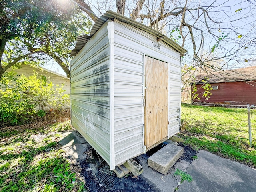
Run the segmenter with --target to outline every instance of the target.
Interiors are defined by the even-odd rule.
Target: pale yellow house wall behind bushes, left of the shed
[[[9,68],[8,70],[6,70],[6,72],[10,72],[11,70],[12,69]],[[57,84],[60,86],[64,84],[62,89],[65,91],[63,92],[63,94],[70,94],[70,79],[62,74],[58,74],[38,66],[33,67],[24,64],[21,65],[21,68],[15,69],[13,71],[15,71],[17,75],[24,74],[25,76],[31,76],[34,74],[34,72],[37,72],[39,77],[41,75],[45,76],[48,82],[52,82],[54,88],[56,88]]]

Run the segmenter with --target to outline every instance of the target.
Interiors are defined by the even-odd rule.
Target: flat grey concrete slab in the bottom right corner
[[[256,169],[199,151],[186,172],[193,178],[184,182],[178,192],[255,192]]]

